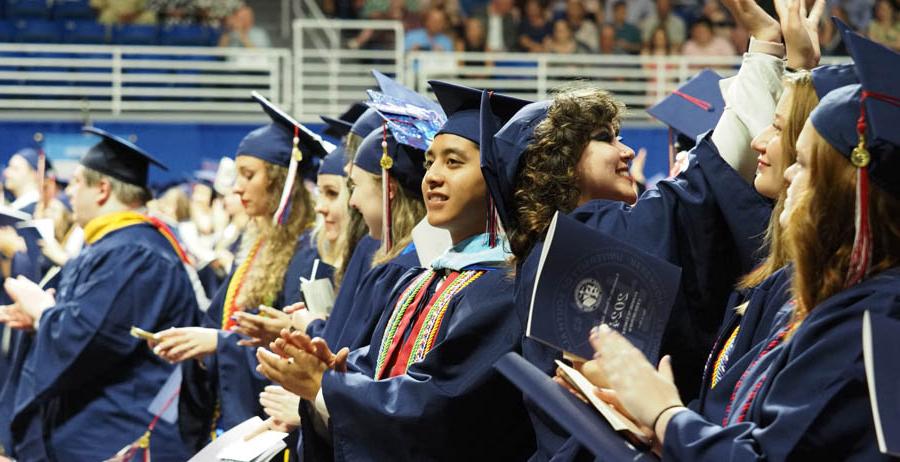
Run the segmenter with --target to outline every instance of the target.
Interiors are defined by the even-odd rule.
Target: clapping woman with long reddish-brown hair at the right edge
[[[900,319],[900,55],[844,34],[860,84],[828,93],[797,140],[779,219],[791,293],[721,420],[686,409],[671,380],[601,326],[586,375],[681,460],[881,460],[863,366],[865,312]],[[858,53],[855,53],[856,50]],[[894,332],[894,335],[900,332]],[[875,348],[879,348],[875,345]]]

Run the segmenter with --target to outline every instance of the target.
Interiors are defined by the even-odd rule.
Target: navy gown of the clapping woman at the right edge
[[[663,457],[891,460],[879,453],[872,424],[860,341],[866,310],[876,319],[900,319],[900,268],[828,298],[790,340],[761,356],[787,325],[787,305],[767,339],[750,353],[757,361],[735,390],[727,425],[693,411],[680,412],[666,428]]]

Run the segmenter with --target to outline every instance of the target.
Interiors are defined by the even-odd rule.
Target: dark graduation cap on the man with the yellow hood
[[[150,164],[169,170],[162,162],[124,138],[96,127],[84,127],[82,131],[100,137],[100,142],[81,158],[81,165],[91,170],[142,188],[148,187]]]

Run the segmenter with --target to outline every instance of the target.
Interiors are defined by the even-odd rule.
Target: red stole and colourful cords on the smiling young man
[[[440,281],[438,273],[429,269],[416,277],[400,294],[388,320],[378,351],[375,378],[403,375],[410,366],[425,359],[434,346],[450,301],[484,273],[484,270],[452,271]],[[420,310],[428,288],[436,282],[440,286]]]

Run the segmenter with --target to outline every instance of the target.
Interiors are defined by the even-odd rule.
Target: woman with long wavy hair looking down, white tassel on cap
[[[269,382],[254,368],[252,340],[235,332],[245,311],[257,307],[275,319],[270,307],[302,301],[300,278],[330,277],[312,239],[314,210],[302,175],[323,157],[327,146],[279,108],[255,96],[272,123],[250,132],[238,146],[235,193],[257,227],[256,242],[213,299],[202,327],[156,334],[154,352],[184,361],[180,403],[182,430],[193,447],[215,433],[262,414],[255,397]],[[195,361],[187,361],[196,359]]]

